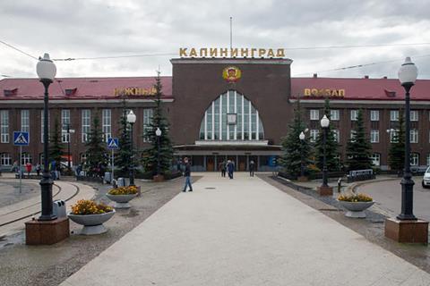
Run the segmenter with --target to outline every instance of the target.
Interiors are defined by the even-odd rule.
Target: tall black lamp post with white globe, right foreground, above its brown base
[[[410,61],[410,57],[407,57],[405,63],[403,63],[399,70],[399,80],[401,86],[405,88],[405,172],[403,173],[403,179],[401,180],[401,213],[397,215],[397,218],[403,220],[416,221],[417,217],[413,214],[413,191],[414,181],[410,173],[410,105],[409,105],[409,90],[415,84],[417,80],[417,66],[415,63]]]

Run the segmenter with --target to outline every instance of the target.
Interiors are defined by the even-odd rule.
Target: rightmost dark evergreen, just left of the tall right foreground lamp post
[[[391,132],[391,130],[390,130]],[[402,172],[405,166],[405,119],[403,111],[399,111],[399,129],[392,133],[392,142],[388,153],[388,164],[391,170]]]

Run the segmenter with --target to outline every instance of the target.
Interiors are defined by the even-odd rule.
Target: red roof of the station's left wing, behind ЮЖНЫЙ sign
[[[160,77],[164,98],[172,97],[172,77]],[[49,86],[50,99],[108,99],[118,98],[116,88],[144,88],[150,91],[154,77],[130,78],[64,78]],[[76,89],[74,89],[76,88]],[[0,80],[0,100],[43,99],[44,88],[38,79]],[[142,98],[146,96],[130,97]]]

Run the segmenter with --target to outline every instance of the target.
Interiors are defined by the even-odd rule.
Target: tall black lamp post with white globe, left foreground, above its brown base
[[[49,138],[48,138],[48,88],[56,77],[56,65],[51,61],[48,54],[39,57],[39,62],[36,65],[36,71],[40,82],[45,88],[44,105],[43,105],[43,173],[40,179],[42,213],[39,216],[39,221],[52,221],[56,219],[56,215],[52,212],[52,180],[48,169],[49,157]]]

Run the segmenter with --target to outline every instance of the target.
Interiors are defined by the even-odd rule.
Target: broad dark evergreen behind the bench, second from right
[[[370,158],[372,146],[366,138],[366,128],[363,118],[363,111],[360,109],[357,114],[355,136],[348,140],[347,144],[347,164],[348,170],[363,170],[372,168]]]

